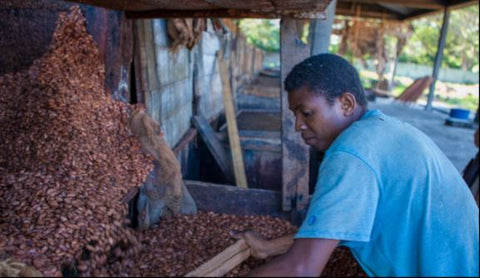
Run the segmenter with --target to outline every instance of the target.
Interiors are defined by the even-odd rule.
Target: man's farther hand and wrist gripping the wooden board
[[[236,239],[243,239],[250,247],[250,253],[254,258],[266,259],[281,255],[288,251],[293,244],[293,235],[287,235],[272,240],[265,239],[256,231],[230,231],[230,235]]]

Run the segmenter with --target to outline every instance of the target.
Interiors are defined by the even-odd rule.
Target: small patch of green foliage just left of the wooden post
[[[271,52],[280,50],[280,20],[242,19],[240,30],[247,41],[258,48]]]

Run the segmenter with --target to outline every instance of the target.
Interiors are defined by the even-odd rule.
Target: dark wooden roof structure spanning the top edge
[[[73,0],[113,10],[130,18],[223,17],[297,18],[325,17],[332,0]],[[410,20],[445,8],[478,4],[478,0],[337,0],[336,15]]]

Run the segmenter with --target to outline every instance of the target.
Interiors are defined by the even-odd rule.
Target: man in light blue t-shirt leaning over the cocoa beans
[[[478,276],[478,207],[462,177],[425,134],[368,110],[343,58],[312,56],[285,79],[295,129],[325,152],[297,234],[244,238],[250,276],[319,276],[337,245],[369,276]]]

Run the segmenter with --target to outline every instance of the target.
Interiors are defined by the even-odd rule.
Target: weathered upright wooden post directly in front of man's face
[[[310,47],[299,38],[296,20],[280,22],[280,61],[282,76],[282,208],[301,210],[308,204],[309,150],[300,134],[295,132],[295,118],[288,106],[283,80],[299,62],[310,56]]]

